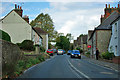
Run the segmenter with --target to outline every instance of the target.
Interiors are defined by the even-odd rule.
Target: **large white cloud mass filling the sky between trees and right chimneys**
[[[104,7],[105,3],[51,2],[50,8],[41,12],[50,14],[58,32],[72,33],[76,39],[100,24]]]

